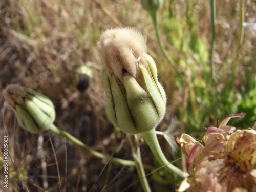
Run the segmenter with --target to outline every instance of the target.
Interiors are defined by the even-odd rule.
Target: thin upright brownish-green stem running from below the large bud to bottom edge
[[[131,149],[132,149],[132,156],[135,162],[135,167],[137,170],[137,173],[139,175],[140,183],[142,185],[142,188],[145,192],[151,192],[150,185],[148,184],[148,181],[146,179],[145,170],[142,164],[142,159],[140,155],[140,146],[138,142],[138,137],[136,135],[127,135]]]

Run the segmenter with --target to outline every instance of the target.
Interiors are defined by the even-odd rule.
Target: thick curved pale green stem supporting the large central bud
[[[152,153],[154,154],[155,158],[158,160],[158,162],[162,166],[164,166],[170,172],[178,175],[181,178],[185,178],[189,176],[188,173],[183,172],[178,167],[174,166],[173,164],[170,164],[170,162],[166,159],[165,155],[161,150],[159,142],[157,140],[155,129],[152,129],[151,131],[140,133],[140,134],[145,139],[148,146],[150,146]]]

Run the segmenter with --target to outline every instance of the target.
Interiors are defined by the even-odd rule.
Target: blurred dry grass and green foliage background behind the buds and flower
[[[115,130],[105,115],[97,51],[103,30],[130,26],[147,36],[148,54],[166,91],[167,111],[158,131],[167,130],[171,140],[181,133],[200,140],[205,127],[217,126],[234,113],[246,115],[230,125],[251,127],[256,121],[256,4],[217,1],[211,20],[211,2],[164,1],[158,25],[171,65],[140,1],[2,0],[0,90],[17,83],[48,96],[56,106],[55,124],[60,129],[94,150],[131,159],[125,134]],[[135,168],[106,164],[48,132],[24,131],[2,94],[0,108],[1,180],[4,135],[11,159],[9,187],[4,191],[142,191]],[[163,136],[158,138],[170,160],[180,157]],[[141,148],[143,162],[159,166],[142,139]],[[174,191],[180,182],[162,169],[146,173],[152,191]]]

